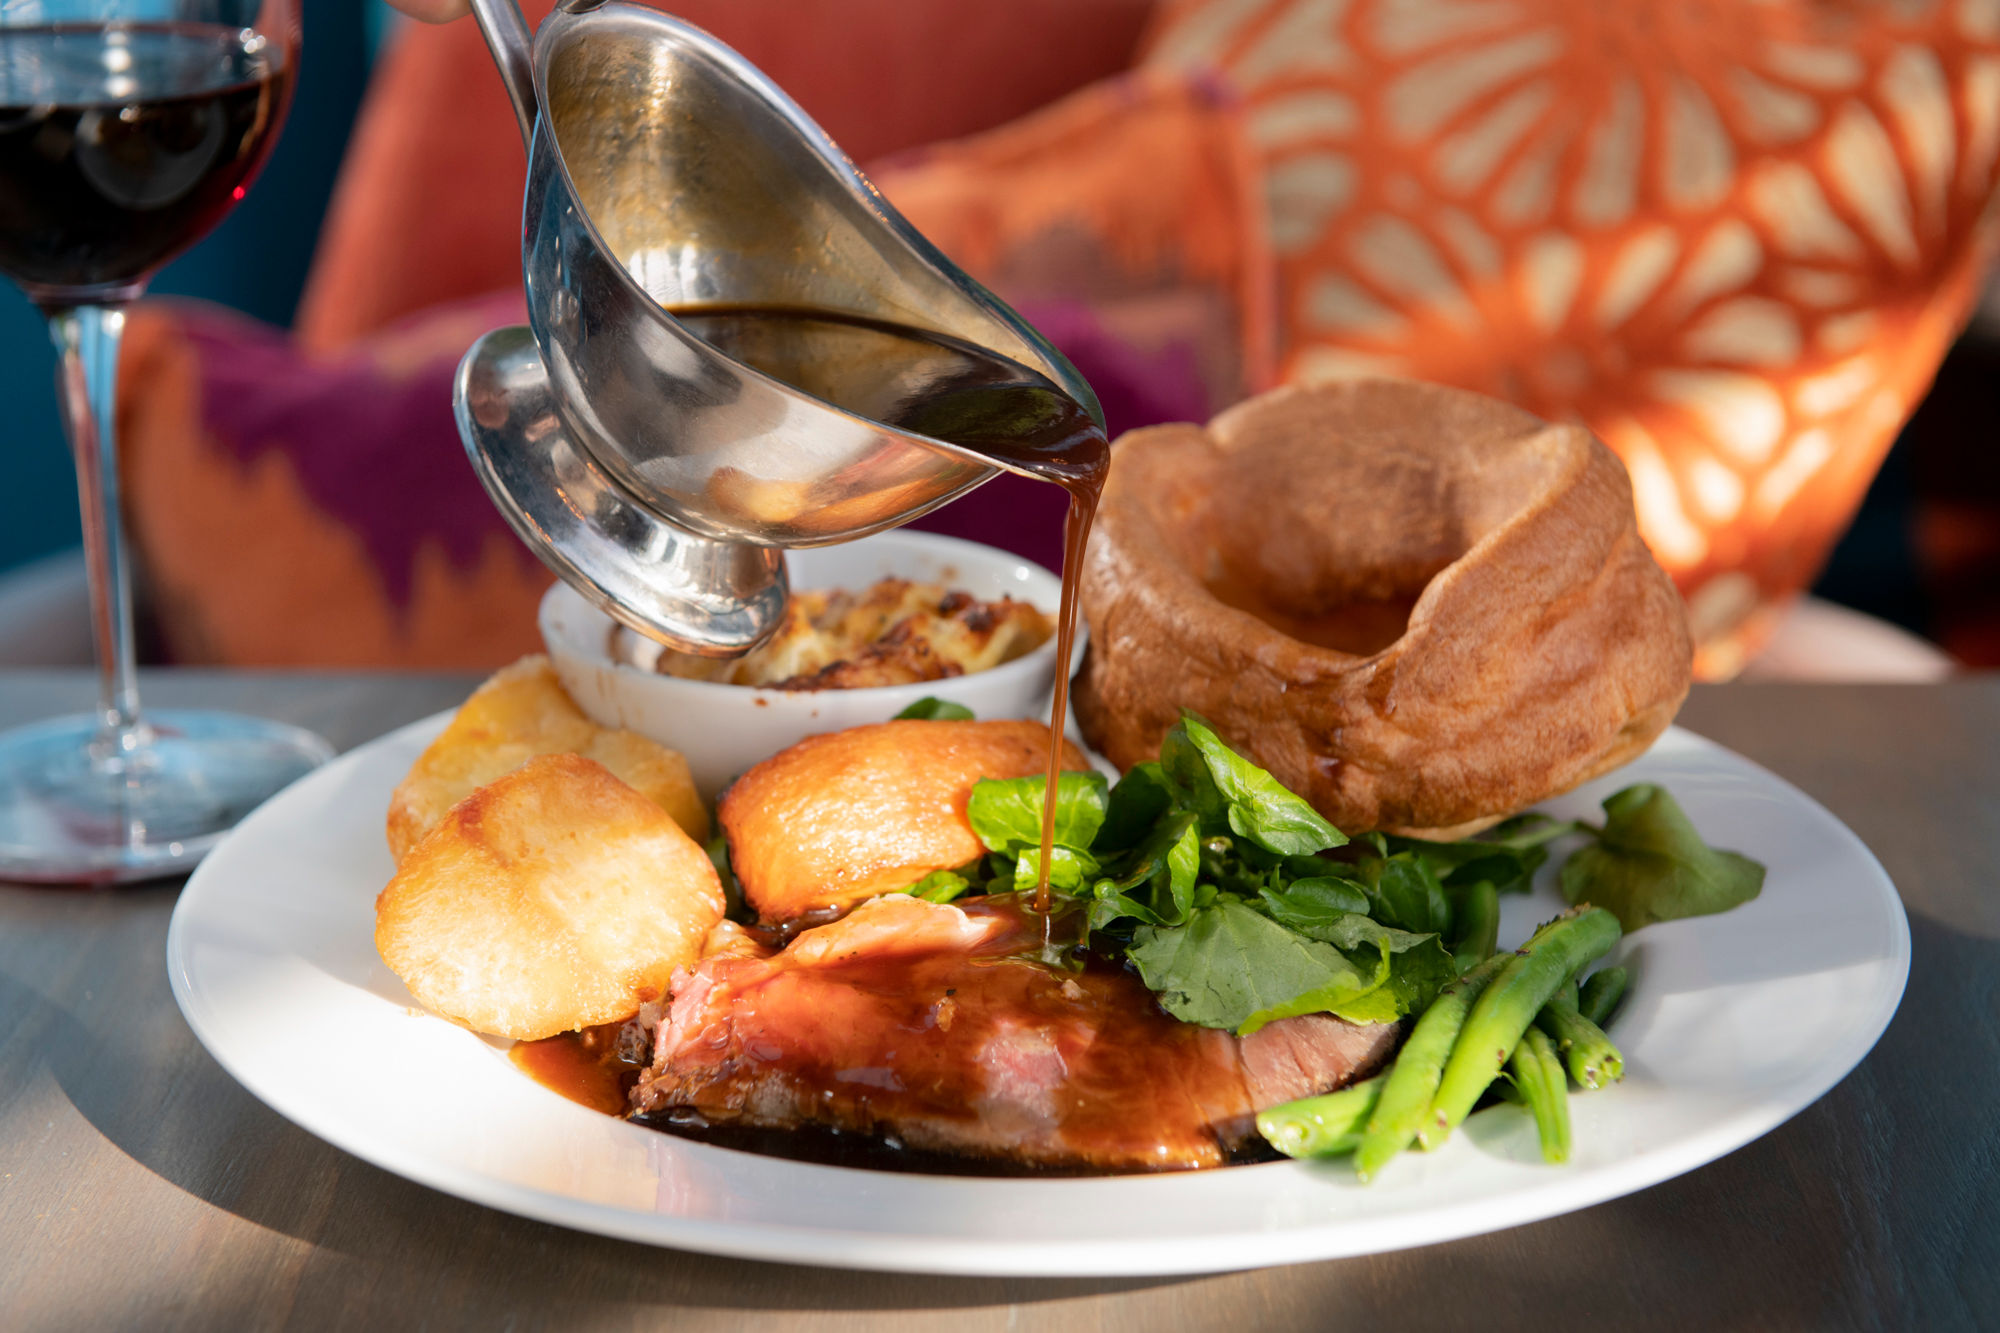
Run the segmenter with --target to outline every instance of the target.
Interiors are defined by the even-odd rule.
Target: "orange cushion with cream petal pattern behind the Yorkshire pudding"
[[[1730,675],[1994,240],[2000,0],[1172,0],[1248,108],[1280,374],[1578,416]]]

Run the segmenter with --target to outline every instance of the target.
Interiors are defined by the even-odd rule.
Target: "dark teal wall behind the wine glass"
[[[326,216],[340,152],[380,38],[378,4],[304,0],[298,92],[284,136],[250,196],[208,240],[170,264],[154,292],[200,296],[290,324]],[[76,474],[56,414],[56,360],[42,316],[0,280],[0,568],[74,546]]]

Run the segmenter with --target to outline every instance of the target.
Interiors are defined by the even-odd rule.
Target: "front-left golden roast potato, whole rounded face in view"
[[[376,899],[376,949],[432,1011],[532,1041],[630,1019],[722,921],[708,853],[580,755],[454,805]]]

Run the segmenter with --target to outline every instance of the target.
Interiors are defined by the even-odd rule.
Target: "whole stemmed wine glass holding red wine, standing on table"
[[[140,713],[114,440],[124,306],[244,196],[296,70],[296,0],[0,0],[0,274],[56,342],[98,652],[94,715],[0,735],[4,879],[184,871],[332,755],[264,719]]]

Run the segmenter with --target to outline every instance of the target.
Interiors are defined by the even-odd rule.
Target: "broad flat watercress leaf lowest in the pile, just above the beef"
[[[1186,925],[1140,927],[1128,957],[1160,1007],[1182,1023],[1250,1033],[1302,1003],[1316,1013],[1376,985],[1332,945],[1288,931],[1240,899],[1218,895]],[[1246,1027],[1248,1025],[1248,1027]]]

